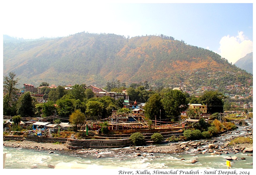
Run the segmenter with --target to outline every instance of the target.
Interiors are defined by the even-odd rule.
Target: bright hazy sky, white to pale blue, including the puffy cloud
[[[24,39],[83,31],[130,38],[163,34],[212,50],[232,63],[253,51],[253,3],[117,2],[120,1],[1,1],[3,34]]]

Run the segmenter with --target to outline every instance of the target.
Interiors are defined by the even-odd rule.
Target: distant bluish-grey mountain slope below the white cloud
[[[234,65],[253,74],[253,53],[248,53],[245,57],[240,58]]]

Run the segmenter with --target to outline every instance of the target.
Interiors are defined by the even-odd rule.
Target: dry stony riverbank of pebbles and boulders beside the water
[[[245,133],[245,137],[253,138],[253,126],[244,126],[239,130],[227,131],[226,133],[220,134],[217,137],[213,137],[208,140],[195,140],[195,141],[184,141],[178,143],[168,143],[165,140],[164,144],[148,144],[146,146],[130,146],[126,148],[119,148],[114,150],[114,152],[123,153],[177,153],[183,151],[192,150],[194,153],[199,154],[229,154],[229,153],[252,153],[253,144],[242,143],[230,145],[230,141],[240,136],[240,133]],[[234,134],[237,136],[233,136]],[[225,135],[230,134],[230,137],[221,140]],[[44,143],[44,142],[34,142],[29,140],[5,140],[3,141],[3,146],[14,147],[14,148],[29,148],[37,150],[66,150],[71,152],[85,151],[88,153],[99,153],[105,152],[108,149],[79,149],[71,150],[66,147],[66,144],[56,144],[56,143]]]

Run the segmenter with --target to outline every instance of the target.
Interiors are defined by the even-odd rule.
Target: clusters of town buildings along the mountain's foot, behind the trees
[[[225,90],[227,91],[223,95],[230,99],[245,99],[247,97],[253,98],[253,86],[250,85],[251,80],[248,80],[248,84],[243,85],[241,83],[234,83],[234,85],[227,85],[225,86]],[[175,85],[172,85],[175,86]],[[44,98],[44,94],[41,93],[42,88],[57,88],[56,85],[51,85],[51,86],[40,86],[40,87],[35,87],[34,85],[31,84],[23,84],[22,87],[20,88],[19,91],[16,92],[17,97],[20,97],[24,92],[31,92],[31,96],[35,97],[38,103],[45,103],[48,101],[48,99]],[[70,90],[72,88],[72,85],[65,85],[65,90]],[[103,96],[110,96],[114,99],[118,98],[124,98],[125,100],[125,106],[129,104],[127,100],[129,100],[129,95],[127,95],[127,90],[122,90],[122,92],[108,92],[107,90],[104,90],[102,88],[96,87],[96,85],[89,85],[85,87],[85,89],[91,89],[92,92],[95,94],[95,97],[103,97]],[[198,85],[198,88],[190,86],[188,87],[187,85],[182,85],[180,83],[179,87],[174,87],[172,88],[173,90],[182,90],[183,92],[187,92],[190,95],[197,95],[197,94],[202,94],[204,91],[217,91],[218,86],[215,86],[214,88],[212,86],[204,86],[204,85]],[[191,89],[192,91],[188,91],[187,89]],[[152,89],[148,89],[151,91]],[[6,91],[3,91],[3,95],[6,95]],[[235,102],[235,104],[232,105],[234,108],[239,107],[239,108],[253,108],[253,102],[249,102],[248,104],[244,104],[243,102]]]

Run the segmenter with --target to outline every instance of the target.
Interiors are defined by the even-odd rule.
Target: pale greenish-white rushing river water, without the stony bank
[[[247,122],[249,126],[252,126],[252,119],[247,120]],[[214,140],[219,141],[216,144],[221,144],[226,142],[225,139],[230,139],[232,136],[245,136],[246,133],[246,126],[239,126],[236,131],[216,137]],[[168,145],[168,143],[165,145]],[[207,145],[204,147],[206,148]],[[130,147],[125,149],[129,150]],[[226,169],[225,158],[227,156],[237,156],[239,159],[231,161],[231,168],[253,168],[253,156],[249,156],[248,153],[242,152],[237,154],[231,152],[229,154],[222,153],[220,155],[211,155],[209,153],[199,154],[198,151],[196,151],[197,149],[190,149],[181,153],[141,153],[142,156],[136,156],[136,153],[116,153],[116,150],[118,149],[105,149],[99,154],[88,154],[85,151],[70,152],[55,150],[53,154],[49,154],[49,151],[47,150],[3,147],[3,152],[7,153],[5,160],[6,169],[47,169],[49,168],[49,164],[54,166],[60,162],[139,169]],[[145,154],[145,156],[143,156],[143,154]],[[98,155],[101,155],[101,158],[97,158]],[[242,157],[245,158],[245,160],[242,160]],[[185,160],[181,160],[182,158]],[[191,163],[193,159],[197,160],[194,164]]]

